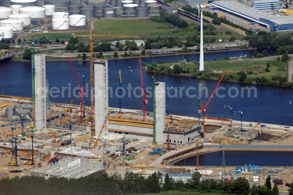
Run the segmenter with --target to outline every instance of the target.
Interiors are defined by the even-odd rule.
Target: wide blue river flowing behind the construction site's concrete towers
[[[215,58],[220,59],[220,55],[223,56],[240,56],[245,53],[252,55],[253,50],[246,51],[228,51],[222,53],[205,53],[206,60],[214,60]],[[268,51],[269,54],[274,54],[275,51]],[[171,62],[178,61],[182,56],[162,56],[154,58],[143,58],[146,62]],[[198,60],[199,54],[188,54],[184,55],[185,59]],[[73,62],[76,73],[80,73],[77,77],[80,84],[82,83],[81,74],[86,75],[86,93],[85,105],[90,105],[90,93],[89,93],[89,61],[77,65],[77,62]],[[133,72],[129,72],[129,66],[131,66]],[[109,60],[108,70],[109,70],[109,87],[114,90],[119,86],[118,71],[121,69],[122,76],[122,87],[126,88],[128,83],[131,83],[133,88],[140,87],[140,74],[139,74],[139,63],[137,58],[130,59],[119,59],[119,60]],[[143,72],[145,87],[152,86],[151,74]],[[57,87],[61,89],[64,86],[71,87],[76,86],[74,75],[70,68],[69,62],[67,61],[54,61],[46,62],[46,78],[50,79],[50,88]],[[23,81],[24,80],[24,83]],[[169,110],[170,113],[178,115],[189,115],[197,116],[197,98],[190,98],[186,93],[188,87],[195,87],[198,89],[199,84],[203,87],[207,87],[209,95],[212,92],[212,88],[216,85],[216,80],[204,80],[190,77],[180,77],[175,75],[157,75],[157,80],[161,82],[167,82],[173,87],[185,87],[183,90],[182,97],[169,98]],[[0,64],[0,97],[4,95],[15,95],[28,97],[32,95],[32,81],[31,81],[31,63],[29,62],[16,62],[10,61]],[[280,88],[280,87],[270,87],[270,86],[258,86],[258,85],[246,85],[244,83],[236,82],[222,82],[222,87],[226,90],[221,90],[220,95],[226,95],[225,98],[215,97],[209,103],[207,107],[206,115],[210,117],[230,117],[229,109],[224,109],[223,104],[232,103],[234,106],[248,107],[246,112],[243,113],[243,121],[253,121],[253,122],[264,122],[273,123],[280,125],[292,125],[293,117],[291,115],[293,105],[287,103],[287,100],[292,99],[293,89],[290,88]],[[228,89],[234,87],[236,90],[241,89],[241,87],[255,87],[257,90],[257,97],[254,97],[254,91],[252,90],[248,97],[248,92],[243,93],[243,97],[240,95],[236,98],[228,97]],[[26,90],[26,88],[28,90]],[[282,94],[280,94],[280,89],[282,89]],[[67,102],[69,103],[71,99],[74,100],[74,104],[79,104],[79,99],[76,97],[68,97],[71,94],[71,90],[65,91],[66,97],[50,97],[52,102]],[[78,91],[76,92],[78,93]],[[172,95],[174,91],[170,92]],[[234,94],[233,92],[231,92]],[[137,92],[139,94],[139,91]],[[190,90],[190,95],[198,94],[198,90]],[[148,98],[149,103],[146,105],[147,111],[153,110],[152,98]],[[205,103],[207,100],[203,99],[202,102]],[[119,107],[119,98],[114,95],[114,97],[109,98],[110,107]],[[266,107],[261,110],[249,110],[250,108]],[[123,97],[122,98],[122,108],[128,109],[142,109],[142,98],[133,97]],[[240,120],[240,115],[234,115],[235,120]]]

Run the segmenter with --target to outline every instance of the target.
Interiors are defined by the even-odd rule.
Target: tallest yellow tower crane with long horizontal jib
[[[94,118],[93,118],[93,116],[94,116],[93,37],[116,37],[116,38],[119,38],[119,37],[138,37],[138,36],[137,35],[111,35],[110,31],[109,31],[108,35],[93,35],[93,32],[90,31],[89,35],[76,35],[76,34],[72,33],[71,36],[89,37],[90,38],[89,51],[91,53],[91,57],[90,57],[90,62],[91,62],[91,65],[90,65],[90,68],[91,68],[91,135],[95,136],[95,126],[94,126],[95,122],[94,122]]]

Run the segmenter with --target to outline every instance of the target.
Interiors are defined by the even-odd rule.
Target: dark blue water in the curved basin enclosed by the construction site
[[[277,151],[225,151],[226,166],[292,166],[293,152]],[[257,158],[255,158],[257,157]],[[200,154],[199,166],[222,166],[222,151]],[[196,156],[182,159],[173,165],[196,166]]]

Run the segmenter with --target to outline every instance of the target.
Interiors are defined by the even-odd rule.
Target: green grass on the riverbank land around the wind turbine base
[[[256,62],[256,68],[254,68],[254,62]],[[265,72],[267,63],[270,64],[270,72]],[[175,64],[175,63],[172,63]],[[163,65],[165,69],[168,69],[172,64]],[[247,74],[247,78],[265,77],[266,79],[271,79],[275,75],[286,76],[286,63],[282,60],[256,60],[256,61],[205,61],[205,70],[220,70],[227,71],[227,74],[235,76],[238,78],[237,73],[244,71],[244,73],[252,72],[252,74]],[[191,73],[194,68],[198,68],[195,63],[186,63],[179,65],[183,69],[189,69]],[[256,74],[254,71],[256,70]]]

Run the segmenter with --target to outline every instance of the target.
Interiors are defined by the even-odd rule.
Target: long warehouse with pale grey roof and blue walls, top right
[[[293,16],[275,16],[236,1],[216,1],[211,5],[248,22],[257,22],[260,26],[269,28],[270,31],[293,30]]]

